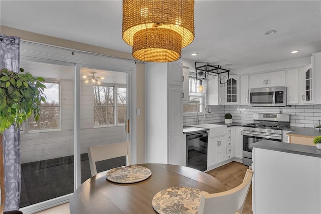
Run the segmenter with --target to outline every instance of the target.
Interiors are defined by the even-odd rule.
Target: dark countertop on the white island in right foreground
[[[250,145],[250,148],[253,148],[253,147],[321,158],[321,150],[317,149],[315,146],[262,140]]]

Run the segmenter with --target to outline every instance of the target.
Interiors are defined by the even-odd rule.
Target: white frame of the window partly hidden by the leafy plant
[[[59,85],[58,88],[58,100],[59,100],[59,127],[58,128],[51,128],[51,129],[36,129],[36,130],[29,130],[29,118],[23,123],[21,134],[28,134],[28,133],[43,133],[43,132],[59,132],[62,131],[61,129],[61,81],[57,79],[46,78],[46,81],[43,83],[57,83]],[[46,94],[45,94],[46,95]]]

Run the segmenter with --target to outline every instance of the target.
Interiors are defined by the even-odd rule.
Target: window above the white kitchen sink
[[[184,113],[196,113],[199,111],[200,113],[204,112],[204,108],[200,108],[200,104],[204,103],[205,98],[204,94],[198,90],[199,81],[196,80],[196,76],[190,75],[190,92],[189,92],[189,103],[184,104]],[[203,85],[205,86],[206,91],[206,81],[203,81]],[[204,103],[205,104],[205,103]]]

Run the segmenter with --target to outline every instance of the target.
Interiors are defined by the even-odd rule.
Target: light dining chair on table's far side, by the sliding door
[[[88,147],[88,158],[91,176],[97,174],[96,162],[126,156],[126,165],[130,165],[129,141]]]

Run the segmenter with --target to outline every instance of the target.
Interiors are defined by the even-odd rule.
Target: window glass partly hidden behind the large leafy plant
[[[46,102],[41,102],[39,120],[35,121],[33,116],[29,118],[29,130],[59,129],[60,83],[44,82],[43,84],[47,87],[44,90],[47,99]]]

